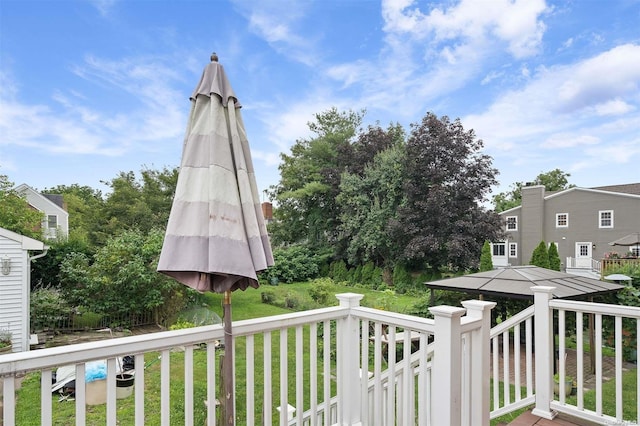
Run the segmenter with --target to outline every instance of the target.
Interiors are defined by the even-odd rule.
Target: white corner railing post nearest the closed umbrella
[[[340,306],[356,308],[364,297],[358,293],[336,294]],[[360,323],[348,315],[338,321],[337,328],[338,423],[359,425],[362,399],[360,395]]]

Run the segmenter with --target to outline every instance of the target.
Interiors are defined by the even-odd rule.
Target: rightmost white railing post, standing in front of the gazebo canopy
[[[534,286],[534,331],[535,331],[535,389],[536,406],[531,411],[534,415],[545,419],[553,419],[555,411],[551,411],[553,399],[553,312],[549,300],[553,298],[555,287]]]

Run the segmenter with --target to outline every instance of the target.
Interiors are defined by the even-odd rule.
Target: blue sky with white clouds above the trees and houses
[[[0,0],[0,173],[106,191],[180,163],[220,56],[261,190],[330,107],[474,129],[507,190],[559,168],[640,182],[640,1]]]

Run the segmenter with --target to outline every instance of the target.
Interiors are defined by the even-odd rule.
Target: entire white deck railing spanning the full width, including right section
[[[553,300],[552,288],[533,290],[534,306],[493,330],[491,302],[433,307],[434,319],[424,319],[360,307],[362,295],[351,293],[338,295],[340,306],[333,308],[234,322],[237,424],[488,425],[490,418],[525,406],[546,418],[564,412],[601,424],[637,422],[624,419],[625,400],[637,401],[638,392],[625,389],[623,395],[621,376],[623,321],[625,326],[632,322],[637,332],[640,309]],[[563,356],[569,351],[568,336],[575,335],[582,347],[590,316],[595,326],[595,402],[585,398],[585,358],[577,351],[577,395],[569,403],[562,380],[559,396],[554,396],[553,365],[557,359],[561,379],[569,374]],[[130,354],[136,365],[131,396],[136,424],[182,423],[172,412],[176,406],[186,425],[202,424],[201,418],[216,424],[216,348],[223,339],[222,327],[215,325],[2,355],[4,424],[16,424],[20,411],[16,377],[40,373],[40,409],[29,407],[29,412],[48,425],[58,409],[51,394],[54,370],[72,365],[76,377],[84,377],[86,362],[103,359],[107,424],[117,424],[117,360]],[[615,409],[602,402],[605,343],[615,350]],[[561,355],[556,357],[556,351]],[[156,362],[159,374],[145,374]],[[176,368],[184,372],[184,383],[171,383]],[[152,376],[158,383],[150,382]],[[75,404],[77,425],[87,420],[88,388],[77,386],[75,403],[64,402]],[[159,396],[145,395],[152,388],[159,389]],[[159,399],[159,409],[149,402],[153,397]],[[145,408],[145,401],[154,408]]]

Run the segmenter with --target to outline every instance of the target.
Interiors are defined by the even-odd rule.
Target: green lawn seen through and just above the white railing
[[[279,286],[263,286],[259,289],[248,289],[247,291],[238,291],[232,294],[232,317],[234,321],[261,318],[266,316],[278,315],[283,313],[290,313],[291,310],[283,309],[278,306],[262,303],[261,293],[262,291],[269,290],[276,293],[277,298],[282,298],[288,294],[295,293],[302,303],[302,307],[305,309],[312,309],[317,306],[308,295],[308,290],[313,284],[297,283],[297,284],[284,284]],[[416,298],[411,296],[394,296],[390,297],[388,293],[382,293],[365,288],[356,288],[349,286],[335,285],[331,289],[332,293],[346,293],[356,292],[364,294],[362,305],[376,306],[384,303],[386,307],[393,311],[403,312],[415,302]],[[222,295],[207,293],[205,295],[206,303],[211,309],[222,317]],[[384,300],[383,300],[384,299]],[[332,305],[337,305],[338,301],[335,298],[331,298]],[[304,330],[304,344],[308,345],[310,328],[305,327]],[[255,370],[256,370],[256,383],[255,383],[255,401],[256,401],[256,413],[255,418],[260,423],[262,415],[261,403],[263,401],[263,383],[262,380],[262,355],[263,355],[263,337],[261,335],[255,338]],[[319,342],[319,344],[321,344]],[[271,393],[273,395],[273,401],[279,400],[280,383],[277,370],[280,366],[280,350],[279,350],[279,332],[272,333],[272,367],[273,367],[273,385]],[[288,353],[295,353],[295,339],[292,333],[289,333],[288,339]],[[307,346],[304,346],[307,347]],[[246,357],[246,340],[244,338],[238,338],[236,340],[235,358],[236,358],[236,376],[239,378],[245,377],[245,357]],[[158,354],[150,353],[145,355],[145,361],[147,368],[145,369],[145,415],[148,424],[159,424],[160,418],[160,367],[159,362],[152,362],[157,358]],[[305,352],[303,355],[304,362],[304,374],[309,374],[309,359],[310,354]],[[288,371],[295,372],[295,357],[290,357],[290,361],[287,364]],[[322,369],[322,363],[319,362],[319,369]],[[195,377],[203,377],[206,371],[206,351],[195,350],[194,351],[194,372]],[[335,371],[335,366],[332,367],[332,371]],[[322,377],[322,371],[319,372]],[[170,398],[170,412],[171,412],[171,424],[184,423],[184,353],[173,352],[171,354],[171,398]],[[219,378],[217,379],[219,383]],[[322,380],[319,380],[319,386],[322,385]],[[308,381],[305,381],[305,395],[308,395]],[[333,382],[335,384],[335,382]],[[318,395],[322,395],[322,389],[318,389]],[[289,384],[288,389],[289,401],[295,398],[295,381]],[[39,425],[40,424],[40,374],[30,373],[26,376],[22,383],[22,388],[18,391],[18,400],[16,407],[16,422],[18,425]],[[67,425],[75,423],[75,403],[69,401],[58,402],[59,396],[57,394],[52,395],[53,399],[53,424],[54,425]],[[237,392],[237,404],[236,412],[240,418],[244,418],[246,413],[244,410],[246,406],[244,404],[246,398],[246,390],[242,386],[238,386]],[[206,408],[203,401],[206,399],[206,382],[204,380],[194,380],[194,416],[195,424],[203,424],[206,418]],[[295,404],[295,403],[293,403]],[[304,408],[309,408],[309,401],[304,402]],[[134,398],[129,397],[125,399],[117,400],[117,418],[119,424],[133,424],[135,418],[135,406]],[[273,410],[274,424],[278,423],[278,412]],[[87,406],[86,419],[88,425],[105,424],[106,422],[106,404]]]

